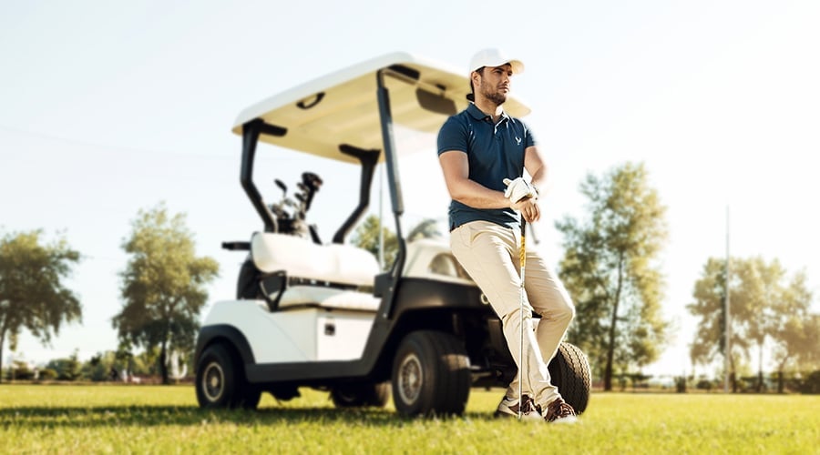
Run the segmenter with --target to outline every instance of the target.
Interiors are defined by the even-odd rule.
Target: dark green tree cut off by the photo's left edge
[[[28,329],[48,344],[64,322],[82,319],[79,300],[62,283],[79,253],[65,238],[46,244],[41,234],[34,230],[0,238],[0,371],[6,339],[15,350],[20,331]]]

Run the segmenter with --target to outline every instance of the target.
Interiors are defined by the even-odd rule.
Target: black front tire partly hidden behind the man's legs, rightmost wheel
[[[587,410],[592,376],[587,356],[575,345],[561,343],[548,365],[552,385],[577,414]]]

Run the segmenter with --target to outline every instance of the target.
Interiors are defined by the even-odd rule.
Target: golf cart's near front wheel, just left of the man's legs
[[[405,416],[460,415],[470,381],[470,360],[460,339],[445,332],[411,332],[393,362],[395,410]]]

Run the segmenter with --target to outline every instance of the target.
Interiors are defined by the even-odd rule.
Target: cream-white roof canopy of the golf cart
[[[403,144],[403,131],[437,133],[447,116],[467,106],[470,85],[465,71],[405,53],[379,56],[271,96],[244,109],[234,122],[233,132],[241,135],[242,125],[261,118],[287,130],[284,136],[261,135],[262,142],[356,162],[341,153],[339,146],[383,148],[376,74],[389,67],[395,71],[386,72],[384,84],[389,90],[396,148],[403,154],[414,152],[421,147]],[[433,105],[449,108],[438,108],[436,112],[422,107],[418,90],[424,91],[422,97]],[[507,98],[504,108],[511,116],[529,113],[528,107],[514,97]],[[384,154],[380,160],[384,160]]]

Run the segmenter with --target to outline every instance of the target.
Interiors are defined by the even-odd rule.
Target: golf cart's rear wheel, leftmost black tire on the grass
[[[201,408],[256,409],[261,390],[245,381],[241,367],[229,348],[215,344],[202,353],[197,363],[196,390]]]

